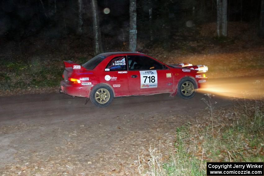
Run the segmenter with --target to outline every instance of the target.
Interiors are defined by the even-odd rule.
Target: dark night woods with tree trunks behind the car
[[[264,34],[264,0],[26,0],[0,2],[0,37],[20,41],[30,36],[93,39],[95,54],[105,38],[169,41],[182,28],[216,23],[218,37],[228,37],[228,22],[246,22]],[[213,37],[213,36],[212,36]]]

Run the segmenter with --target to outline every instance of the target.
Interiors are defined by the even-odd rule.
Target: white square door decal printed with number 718
[[[140,72],[140,88],[156,88],[158,87],[157,70],[139,71]]]

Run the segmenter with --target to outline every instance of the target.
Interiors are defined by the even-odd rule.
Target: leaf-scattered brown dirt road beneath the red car
[[[0,97],[0,174],[138,175],[150,143],[173,146],[175,129],[206,113],[202,97],[123,97],[105,108],[59,93]]]

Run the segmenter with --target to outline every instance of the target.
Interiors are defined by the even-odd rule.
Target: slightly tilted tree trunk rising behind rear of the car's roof
[[[92,12],[93,12],[93,43],[94,43],[94,55],[98,55],[103,52],[101,29],[99,25],[97,0],[91,0]]]

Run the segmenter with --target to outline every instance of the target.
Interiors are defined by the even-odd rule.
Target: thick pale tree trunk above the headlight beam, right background
[[[217,36],[227,36],[227,0],[216,0]]]

